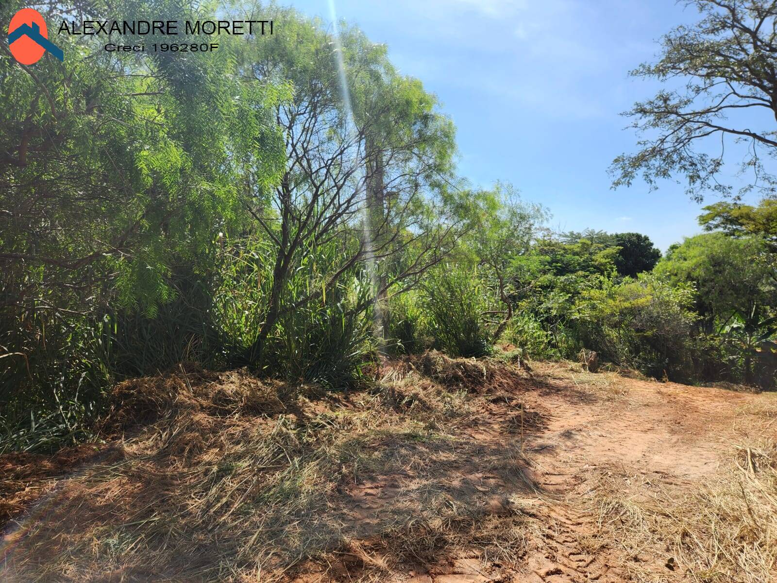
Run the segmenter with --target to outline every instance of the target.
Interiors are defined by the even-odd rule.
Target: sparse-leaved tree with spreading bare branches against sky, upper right
[[[630,186],[641,174],[655,188],[657,180],[681,175],[697,200],[709,191],[732,194],[720,173],[726,143],[733,140],[743,142],[740,170],[751,176],[740,194],[753,189],[775,194],[777,180],[763,157],[777,155],[777,2],[686,4],[699,9],[699,23],[665,35],[660,60],[632,72],[664,83],[684,80],[685,85],[660,89],[625,112],[645,138],[638,142],[639,152],[615,158],[613,186]],[[710,154],[710,148],[718,149]]]

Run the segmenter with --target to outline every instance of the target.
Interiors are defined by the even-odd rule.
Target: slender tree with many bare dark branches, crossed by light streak
[[[440,197],[451,180],[455,131],[437,99],[399,75],[385,47],[361,31],[343,26],[333,35],[294,10],[283,15],[283,35],[247,44],[242,55],[254,79],[293,87],[276,110],[283,176],[249,204],[256,229],[274,246],[267,307],[246,350],[246,360],[260,367],[284,314],[357,269],[375,274],[380,305],[389,288],[415,285],[444,257],[459,224]],[[305,250],[332,242],[340,245],[339,262],[289,301],[284,288]]]

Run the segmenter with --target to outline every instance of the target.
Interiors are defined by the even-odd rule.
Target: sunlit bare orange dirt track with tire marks
[[[619,380],[628,391],[605,392],[595,401],[559,380],[525,395],[530,407],[547,412],[546,431],[532,436],[527,448],[538,468],[534,479],[549,494],[538,511],[548,523],[534,537],[526,581],[629,581],[622,568],[628,557],[594,543],[598,516],[589,501],[601,480],[618,475],[627,482],[639,476],[650,484],[652,477],[676,487],[698,483],[719,466],[730,421],[748,398],[720,389]],[[634,482],[639,495],[645,482]],[[581,540],[589,548],[581,548]]]

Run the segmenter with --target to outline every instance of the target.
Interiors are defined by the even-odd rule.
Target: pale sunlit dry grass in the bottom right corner
[[[600,541],[617,540],[636,581],[777,581],[777,443],[732,449],[725,470],[694,489],[651,484],[598,494]],[[656,562],[655,557],[661,557]]]

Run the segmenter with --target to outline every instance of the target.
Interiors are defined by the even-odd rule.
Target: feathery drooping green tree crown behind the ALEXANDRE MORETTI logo
[[[18,5],[2,8],[4,22]],[[176,6],[96,2],[81,15],[193,17]],[[50,2],[47,15],[61,9]],[[100,301],[153,311],[172,263],[206,256],[239,215],[243,171],[263,187],[279,176],[280,93],[239,76],[230,44],[221,57],[136,57],[89,37],[59,42],[73,58],[35,68],[0,48],[0,309],[67,309],[52,292],[96,305],[99,288],[115,292]]]

